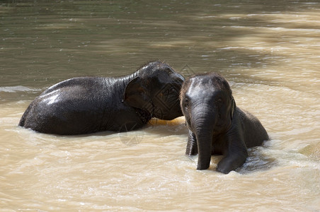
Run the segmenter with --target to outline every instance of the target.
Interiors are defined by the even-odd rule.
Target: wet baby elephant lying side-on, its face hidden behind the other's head
[[[62,135],[137,129],[152,117],[182,116],[183,81],[181,74],[159,61],[127,76],[71,78],[35,98],[19,125]]]

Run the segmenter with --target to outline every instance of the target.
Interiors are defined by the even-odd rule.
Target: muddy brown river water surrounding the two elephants
[[[1,211],[319,211],[319,1],[1,1]],[[184,118],[85,136],[18,127],[42,90],[166,61],[217,71],[270,141],[196,170]]]

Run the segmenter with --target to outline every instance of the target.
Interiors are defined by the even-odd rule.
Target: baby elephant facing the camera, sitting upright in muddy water
[[[198,170],[210,166],[211,155],[224,155],[217,170],[224,174],[241,167],[247,148],[268,140],[261,122],[236,107],[225,78],[208,73],[188,78],[181,88],[181,109],[189,129],[187,155],[198,154]]]

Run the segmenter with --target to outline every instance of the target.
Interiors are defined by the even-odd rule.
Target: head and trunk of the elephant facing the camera
[[[186,153],[198,153],[198,170],[210,166],[213,142],[232,126],[235,107],[229,83],[217,73],[193,76],[183,83],[181,109],[195,141],[188,143]]]

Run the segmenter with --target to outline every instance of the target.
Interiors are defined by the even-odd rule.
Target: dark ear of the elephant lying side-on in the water
[[[139,109],[143,109],[151,101],[147,95],[147,90],[142,86],[141,78],[136,77],[127,84],[123,100],[131,107]]]

